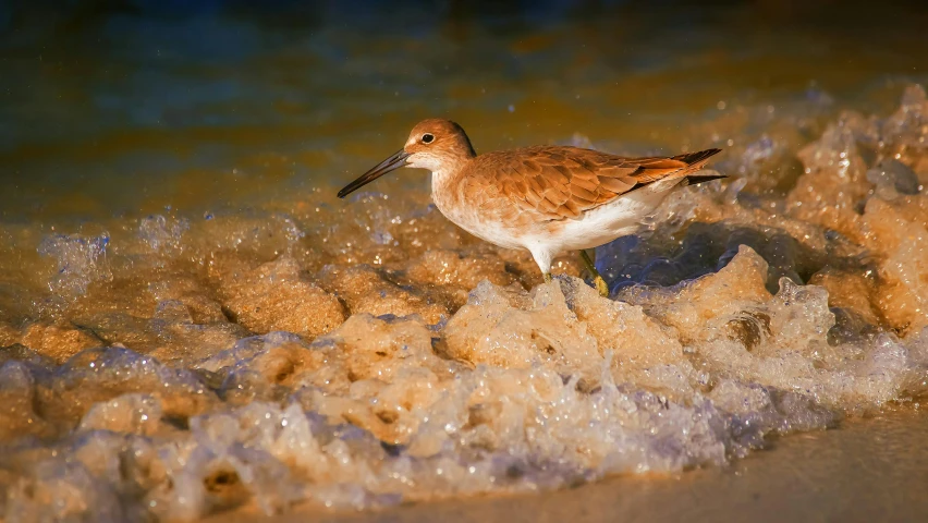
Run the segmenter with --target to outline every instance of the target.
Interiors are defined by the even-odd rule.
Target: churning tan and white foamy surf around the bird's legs
[[[911,87],[884,119],[821,127],[765,108],[716,166],[744,178],[680,191],[598,250],[609,299],[573,257],[541,283],[417,191],[11,227],[0,512],[194,521],[538,491],[917,403],[926,107]]]

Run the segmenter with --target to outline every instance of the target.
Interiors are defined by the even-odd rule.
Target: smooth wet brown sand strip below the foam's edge
[[[928,519],[928,414],[894,408],[840,428],[791,435],[725,467],[624,475],[573,489],[423,502],[374,513],[252,510],[205,523],[841,521]]]

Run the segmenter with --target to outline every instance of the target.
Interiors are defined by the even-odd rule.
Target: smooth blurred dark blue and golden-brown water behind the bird
[[[328,198],[428,117],[478,153],[721,145],[743,168],[896,107],[928,78],[926,28],[893,0],[4,0],[0,221]]]

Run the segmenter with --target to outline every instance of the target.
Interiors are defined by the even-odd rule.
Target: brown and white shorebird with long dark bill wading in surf
[[[586,251],[635,232],[674,188],[724,178],[698,172],[720,150],[625,158],[540,145],[478,156],[461,125],[430,119],[339,197],[401,167],[427,169],[435,205],[449,220],[500,247],[528,251],[545,281],[555,256],[579,251],[597,291],[608,296]]]

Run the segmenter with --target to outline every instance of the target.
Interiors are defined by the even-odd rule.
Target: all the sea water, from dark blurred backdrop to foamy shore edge
[[[7,521],[681,473],[928,393],[924,10],[52,7],[0,8]],[[603,299],[422,172],[335,198],[428,117],[730,178],[598,248]]]

